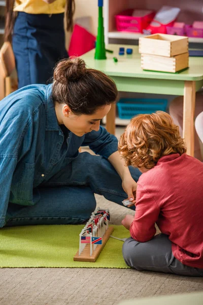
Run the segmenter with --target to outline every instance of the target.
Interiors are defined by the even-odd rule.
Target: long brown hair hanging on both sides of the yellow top
[[[6,22],[4,41],[12,41],[12,32],[15,22],[16,12],[13,11],[15,0],[6,0]],[[67,0],[65,16],[66,16],[66,29],[73,31],[73,15],[75,13],[75,0]]]

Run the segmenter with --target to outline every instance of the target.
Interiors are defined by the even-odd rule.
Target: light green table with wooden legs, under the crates
[[[109,75],[119,91],[183,96],[183,137],[187,144],[187,154],[193,156],[195,92],[203,86],[203,57],[190,57],[189,69],[177,74],[143,71],[138,46],[124,45],[125,48],[132,48],[133,54],[119,56],[120,46],[123,45],[108,45],[107,48],[114,53],[107,53],[106,60],[95,60],[94,50],[82,55],[82,58],[88,67]],[[114,56],[118,58],[117,63],[114,63]],[[113,105],[107,115],[106,126],[113,134],[115,116],[116,105]]]

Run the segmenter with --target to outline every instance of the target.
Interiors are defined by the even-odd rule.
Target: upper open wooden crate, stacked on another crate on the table
[[[172,57],[188,52],[188,37],[154,34],[139,38],[139,53]]]

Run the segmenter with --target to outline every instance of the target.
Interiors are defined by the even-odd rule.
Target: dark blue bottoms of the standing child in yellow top
[[[18,12],[12,39],[18,88],[47,84],[58,60],[69,57],[63,19],[63,13],[50,16]]]

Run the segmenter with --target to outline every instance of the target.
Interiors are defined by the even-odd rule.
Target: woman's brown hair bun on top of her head
[[[83,59],[79,57],[62,59],[54,69],[54,80],[61,84],[76,82],[86,74],[86,71]]]

